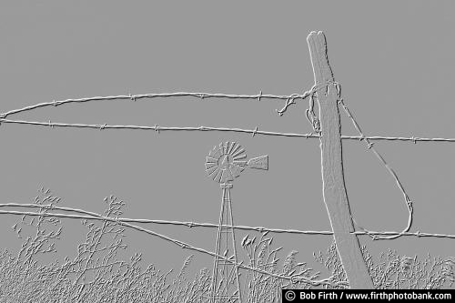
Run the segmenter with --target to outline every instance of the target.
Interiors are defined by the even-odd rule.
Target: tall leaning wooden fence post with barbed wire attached
[[[321,128],[320,151],[324,203],[350,288],[374,288],[362,257],[359,239],[356,235],[350,234],[354,231],[354,226],[344,182],[338,94],[329,66],[326,36],[322,32],[311,32],[307,42],[315,84],[323,86],[317,91],[316,96]]]

